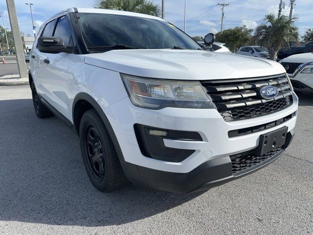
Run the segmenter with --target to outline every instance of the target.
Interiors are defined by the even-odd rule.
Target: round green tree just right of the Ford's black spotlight
[[[223,42],[226,44],[232,52],[235,52],[238,47],[249,44],[252,34],[252,29],[248,29],[246,25],[241,27],[225,29],[223,33],[218,32],[216,36],[217,42]]]

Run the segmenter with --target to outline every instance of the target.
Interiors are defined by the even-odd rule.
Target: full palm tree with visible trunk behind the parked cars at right
[[[297,18],[289,19],[287,16],[276,17],[268,14],[255,29],[254,38],[259,45],[268,47],[269,58],[275,60],[281,47],[289,47],[289,40],[298,40],[298,28],[294,26]]]

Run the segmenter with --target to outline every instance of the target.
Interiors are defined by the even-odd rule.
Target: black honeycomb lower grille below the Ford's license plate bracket
[[[261,156],[257,156],[253,153],[253,150],[247,151],[240,154],[235,154],[230,156],[232,163],[232,173],[238,174],[243,170],[249,169],[253,166],[261,164],[279,154],[283,149],[275,148]]]

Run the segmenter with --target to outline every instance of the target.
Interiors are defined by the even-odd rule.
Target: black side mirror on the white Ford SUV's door
[[[73,47],[70,45],[65,46],[63,40],[59,37],[39,37],[37,45],[39,51],[44,53],[71,53],[73,51]]]

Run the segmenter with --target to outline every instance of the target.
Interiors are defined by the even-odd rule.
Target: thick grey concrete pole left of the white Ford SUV
[[[22,46],[22,39],[20,34],[18,17],[16,14],[16,8],[14,0],[6,0],[6,5],[8,7],[9,19],[11,24],[11,31],[13,34],[13,40],[16,51],[16,60],[18,61],[18,67],[20,72],[20,77],[28,77],[26,63],[24,58],[24,50]]]

